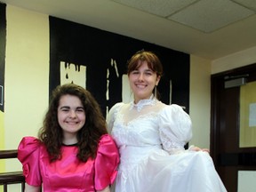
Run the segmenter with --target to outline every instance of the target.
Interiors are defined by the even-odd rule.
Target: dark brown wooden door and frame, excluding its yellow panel
[[[231,81],[235,84],[228,84]],[[241,147],[240,138],[240,125],[246,120],[241,118],[241,87],[255,81],[256,64],[212,75],[210,149],[228,192],[237,191],[239,171],[256,170],[256,146]]]

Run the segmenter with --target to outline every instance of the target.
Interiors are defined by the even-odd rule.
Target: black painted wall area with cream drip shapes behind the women
[[[164,66],[164,76],[157,89],[161,100],[169,103],[172,79],[172,103],[189,108],[189,55],[131,37],[81,25],[68,20],[49,17],[50,20],[50,93],[60,84],[60,61],[86,65],[86,88],[98,100],[103,113],[122,100],[122,75],[133,53],[141,49],[155,52]],[[119,77],[110,60],[116,60]],[[79,68],[79,66],[77,66]],[[109,100],[106,100],[107,69],[109,73]]]

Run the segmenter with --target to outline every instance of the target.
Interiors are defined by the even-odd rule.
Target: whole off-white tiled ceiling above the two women
[[[209,60],[256,46],[256,0],[0,1]]]

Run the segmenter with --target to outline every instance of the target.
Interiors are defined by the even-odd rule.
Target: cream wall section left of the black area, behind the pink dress
[[[6,20],[4,144],[15,149],[23,136],[36,136],[48,105],[49,20],[10,5]]]

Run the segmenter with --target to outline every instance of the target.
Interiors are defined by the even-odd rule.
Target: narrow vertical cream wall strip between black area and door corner
[[[190,55],[189,115],[193,139],[189,145],[210,148],[211,61]]]

